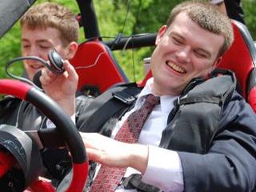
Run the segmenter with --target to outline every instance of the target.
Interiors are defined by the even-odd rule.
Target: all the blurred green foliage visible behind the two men
[[[75,0],[38,0],[36,2],[58,2],[78,14]],[[98,26],[103,40],[109,41],[118,34],[127,36],[140,33],[157,33],[158,28],[164,24],[170,10],[182,0],[94,0],[94,8],[98,17]],[[256,39],[256,7],[255,0],[243,0],[243,9],[246,15],[246,24]],[[90,19],[90,18],[88,18]],[[1,39],[0,44],[0,78],[7,78],[4,66],[12,58],[21,55],[20,26],[14,27]],[[83,30],[79,42],[85,41]],[[154,47],[136,50],[114,51],[118,63],[125,70],[131,81],[142,79],[143,58],[150,57]],[[15,65],[14,74],[22,74],[22,64]]]

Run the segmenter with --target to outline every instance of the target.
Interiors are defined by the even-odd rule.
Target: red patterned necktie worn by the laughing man
[[[114,139],[120,142],[137,142],[146,118],[159,101],[159,97],[149,94],[142,107],[129,115]],[[126,168],[102,166],[90,186],[90,192],[113,192],[125,173]]]

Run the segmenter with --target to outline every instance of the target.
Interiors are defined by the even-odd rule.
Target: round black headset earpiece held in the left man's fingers
[[[62,57],[58,54],[58,52],[54,50],[50,50],[48,54],[48,59],[50,61],[50,68],[54,73],[62,74],[64,72]]]

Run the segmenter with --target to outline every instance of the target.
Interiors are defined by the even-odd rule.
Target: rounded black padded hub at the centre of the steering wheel
[[[2,150],[8,151],[10,154],[14,155],[14,158],[18,162],[20,169],[17,166],[12,167],[10,172],[15,172],[20,175],[20,178],[16,181],[12,178],[6,179],[9,182],[13,180],[15,188],[25,189],[30,182],[34,181],[40,174],[42,174],[43,165],[40,151],[36,142],[34,142],[27,134],[22,130],[14,126],[0,125],[0,147]],[[10,177],[16,177],[13,174],[9,174]],[[8,178],[8,173],[6,174]],[[1,179],[2,180],[2,179]],[[5,180],[5,179],[4,179]],[[23,182],[21,182],[23,181]],[[8,183],[3,183],[2,185],[7,185]],[[25,186],[23,186],[25,185]],[[0,186],[2,189],[2,187]]]

